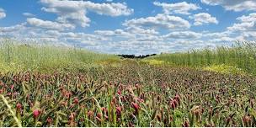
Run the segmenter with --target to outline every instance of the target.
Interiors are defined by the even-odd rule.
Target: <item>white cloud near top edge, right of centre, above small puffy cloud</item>
[[[197,6],[194,3],[159,3],[154,2],[153,3],[156,6],[160,6],[163,8],[164,13],[180,13],[180,14],[190,14],[189,11],[200,9],[199,6]]]

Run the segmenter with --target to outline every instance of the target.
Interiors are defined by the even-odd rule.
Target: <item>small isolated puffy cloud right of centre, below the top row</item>
[[[212,17],[209,13],[197,13],[193,16],[189,16],[190,19],[194,19],[194,25],[202,25],[202,24],[218,24],[218,20],[215,17]]]

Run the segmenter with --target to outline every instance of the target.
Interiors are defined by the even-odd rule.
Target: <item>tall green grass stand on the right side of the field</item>
[[[249,42],[237,42],[231,47],[219,46],[216,49],[205,48],[183,53],[161,54],[147,59],[165,61],[173,66],[209,67],[227,65],[243,69],[256,75],[256,45]]]

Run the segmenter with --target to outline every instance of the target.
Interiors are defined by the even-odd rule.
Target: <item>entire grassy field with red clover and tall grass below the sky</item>
[[[135,60],[8,41],[0,126],[256,126],[253,45]]]

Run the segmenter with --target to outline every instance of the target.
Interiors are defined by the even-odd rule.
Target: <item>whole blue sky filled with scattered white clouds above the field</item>
[[[0,0],[0,39],[145,55],[256,40],[256,0]]]

